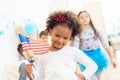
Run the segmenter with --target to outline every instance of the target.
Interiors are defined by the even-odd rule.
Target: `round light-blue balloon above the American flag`
[[[35,23],[27,23],[25,25],[25,32],[29,35],[33,35],[37,31],[37,26]]]

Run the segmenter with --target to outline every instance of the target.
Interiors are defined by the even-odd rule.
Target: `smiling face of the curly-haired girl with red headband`
[[[68,44],[71,37],[72,30],[63,25],[57,25],[50,30],[52,51],[59,50]]]

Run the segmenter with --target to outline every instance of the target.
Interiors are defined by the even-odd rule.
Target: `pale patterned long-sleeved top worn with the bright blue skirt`
[[[74,47],[80,48],[81,50],[89,51],[95,50],[100,47],[99,40],[104,48],[109,48],[108,43],[106,43],[102,32],[96,28],[97,37],[94,34],[93,29],[90,27],[85,29],[81,35],[78,35],[74,39]],[[98,40],[99,39],[99,40]]]

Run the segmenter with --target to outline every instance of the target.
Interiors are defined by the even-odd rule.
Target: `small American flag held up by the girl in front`
[[[22,47],[24,50],[32,50],[35,55],[47,53],[49,51],[49,44],[40,40],[33,40],[18,34]]]

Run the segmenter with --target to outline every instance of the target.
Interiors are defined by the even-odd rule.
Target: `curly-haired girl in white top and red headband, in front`
[[[80,30],[76,14],[72,11],[53,12],[46,24],[51,45],[50,51],[41,55],[44,74],[41,80],[87,80],[91,77],[97,70],[95,62],[79,49],[68,46],[69,40]],[[77,61],[86,66],[83,72],[75,71]]]

